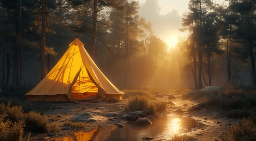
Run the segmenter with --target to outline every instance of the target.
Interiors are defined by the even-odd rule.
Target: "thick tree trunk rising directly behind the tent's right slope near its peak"
[[[95,61],[95,45],[97,34],[97,0],[93,1],[93,36],[90,46],[90,56]]]

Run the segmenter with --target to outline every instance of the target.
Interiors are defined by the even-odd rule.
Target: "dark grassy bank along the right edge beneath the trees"
[[[219,93],[194,91],[183,94],[184,99],[196,100],[207,106],[219,106],[226,111],[226,116],[242,118],[249,115],[250,110],[256,109],[256,91],[253,88],[226,87]]]

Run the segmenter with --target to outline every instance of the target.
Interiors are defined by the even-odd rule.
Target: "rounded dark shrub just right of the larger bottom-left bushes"
[[[26,129],[33,132],[45,133],[49,132],[49,122],[45,114],[41,115],[38,112],[31,111],[27,114]]]

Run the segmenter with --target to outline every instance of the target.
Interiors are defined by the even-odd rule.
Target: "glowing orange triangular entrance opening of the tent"
[[[77,100],[96,95],[99,92],[98,88],[90,79],[85,66],[83,66],[78,73],[77,79],[72,86],[71,98]]]

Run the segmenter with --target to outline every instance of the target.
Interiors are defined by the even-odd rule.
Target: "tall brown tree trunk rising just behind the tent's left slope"
[[[40,60],[41,60],[41,80],[46,76],[46,62],[45,62],[45,0],[42,0],[42,30],[41,30],[41,46],[40,46]]]

